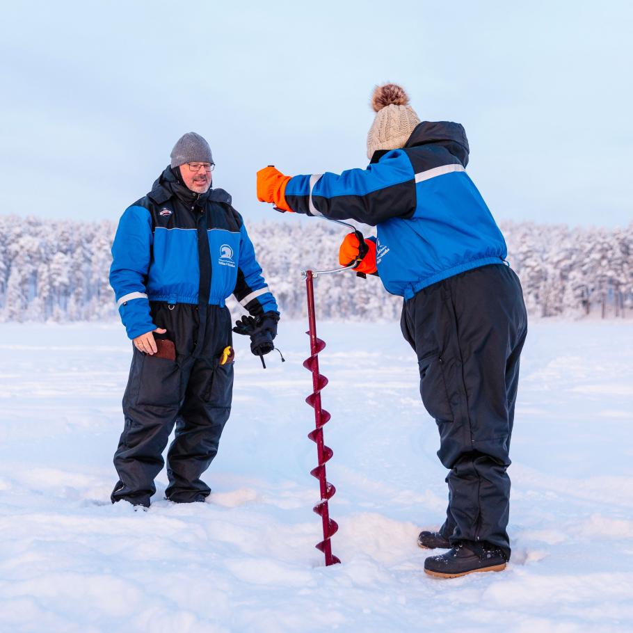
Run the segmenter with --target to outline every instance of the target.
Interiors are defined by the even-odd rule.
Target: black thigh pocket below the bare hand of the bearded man
[[[141,352],[138,372],[138,406],[179,406],[182,399],[182,371],[175,360],[156,358]]]

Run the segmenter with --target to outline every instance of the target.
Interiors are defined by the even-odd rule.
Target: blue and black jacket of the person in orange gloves
[[[385,288],[408,299],[463,271],[501,264],[506,243],[465,172],[464,128],[420,123],[401,150],[375,152],[367,169],[291,178],[293,211],[376,226]]]

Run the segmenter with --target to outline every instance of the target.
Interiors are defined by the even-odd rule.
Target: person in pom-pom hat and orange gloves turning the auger
[[[285,211],[376,226],[358,271],[403,296],[401,329],[417,354],[420,390],[440,432],[449,469],[447,518],[423,531],[427,573],[456,577],[499,571],[510,557],[506,469],[527,333],[520,282],[506,243],[466,174],[461,125],[420,122],[402,88],[376,88],[367,169],[341,175],[257,173],[257,196]],[[348,235],[342,265],[358,257]]]

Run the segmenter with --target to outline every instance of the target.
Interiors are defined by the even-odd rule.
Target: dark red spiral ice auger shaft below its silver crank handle
[[[323,540],[316,545],[326,556],[326,566],[340,563],[339,559],[332,554],[332,543],[330,537],[333,536],[339,526],[336,521],[330,519],[330,509],[328,499],[331,499],[336,492],[336,488],[326,479],[326,462],[332,457],[332,449],[323,443],[323,426],[328,423],[330,414],[321,408],[321,390],[328,384],[328,379],[319,374],[319,352],[325,348],[326,344],[316,337],[316,316],[314,315],[314,284],[312,282],[312,271],[305,272],[305,289],[307,293],[307,319],[310,329],[305,332],[310,336],[310,358],[306,358],[303,367],[312,371],[312,394],[307,396],[305,401],[314,408],[314,422],[316,428],[308,434],[308,438],[316,442],[316,453],[319,458],[319,465],[310,471],[312,476],[319,479],[321,488],[321,501],[314,506],[314,512],[321,516],[323,521]]]

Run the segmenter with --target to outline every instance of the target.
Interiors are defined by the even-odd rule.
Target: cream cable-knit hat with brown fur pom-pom
[[[420,120],[409,105],[409,97],[395,83],[376,86],[371,95],[371,107],[376,112],[367,134],[367,158],[376,150],[396,150],[404,147]]]

